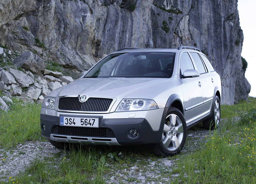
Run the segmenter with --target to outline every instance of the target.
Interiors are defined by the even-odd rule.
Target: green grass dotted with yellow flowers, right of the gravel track
[[[224,120],[219,130],[209,132],[200,150],[182,156],[176,168],[182,183],[255,183],[256,123],[243,119],[256,108],[255,101],[221,106]]]

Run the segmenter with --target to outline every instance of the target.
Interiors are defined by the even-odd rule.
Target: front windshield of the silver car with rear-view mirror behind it
[[[175,53],[130,52],[111,54],[97,63],[84,78],[172,76]]]

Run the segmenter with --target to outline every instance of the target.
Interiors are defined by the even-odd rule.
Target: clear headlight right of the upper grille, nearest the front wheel
[[[123,99],[116,109],[116,112],[134,111],[134,110],[151,110],[158,109],[154,100],[148,99]]]

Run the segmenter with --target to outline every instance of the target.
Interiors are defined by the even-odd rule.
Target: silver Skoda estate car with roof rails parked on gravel
[[[149,144],[175,155],[188,128],[219,126],[220,96],[220,76],[197,48],[123,48],[44,98],[41,133],[60,148]]]

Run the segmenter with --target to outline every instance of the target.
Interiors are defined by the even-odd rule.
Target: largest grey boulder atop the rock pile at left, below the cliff
[[[41,75],[47,66],[47,64],[44,63],[44,60],[39,57],[39,55],[30,51],[22,53],[16,57],[12,63],[37,75]]]

